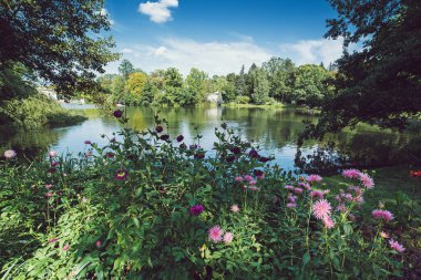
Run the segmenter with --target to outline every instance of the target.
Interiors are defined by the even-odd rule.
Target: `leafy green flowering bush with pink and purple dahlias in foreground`
[[[224,124],[212,155],[156,118],[78,158],[0,168],[3,277],[13,279],[384,279],[399,276],[387,211],[363,226],[372,179],[332,194],[298,179]],[[359,187],[356,187],[359,185]],[[329,209],[329,207],[336,207]],[[379,216],[380,215],[380,216]]]

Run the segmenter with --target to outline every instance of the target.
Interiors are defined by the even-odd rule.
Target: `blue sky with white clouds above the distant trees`
[[[342,53],[342,40],[324,39],[326,19],[336,17],[327,0],[106,0],[101,12],[115,51],[145,72],[224,75],[271,56],[329,65]]]

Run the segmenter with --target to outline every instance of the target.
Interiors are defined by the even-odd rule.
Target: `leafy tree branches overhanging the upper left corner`
[[[20,63],[60,93],[97,90],[96,73],[117,59],[103,33],[110,29],[103,7],[102,0],[0,0],[0,71]]]

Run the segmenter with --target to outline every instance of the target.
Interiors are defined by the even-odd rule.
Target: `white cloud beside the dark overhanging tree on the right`
[[[281,56],[290,58],[301,65],[307,63],[320,63],[326,66],[342,55],[343,39],[338,40],[301,40],[297,43],[281,44]]]

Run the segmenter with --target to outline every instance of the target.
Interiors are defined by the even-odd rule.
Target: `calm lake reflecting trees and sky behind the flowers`
[[[84,141],[105,145],[106,137],[122,128],[115,118],[104,116],[100,110],[89,105],[65,105],[78,110],[88,117],[82,124],[42,129],[37,132],[0,132],[0,147],[14,148],[18,153],[59,153],[78,154],[88,148]],[[187,145],[193,144],[195,135],[203,135],[199,145],[212,156],[216,141],[215,127],[222,123],[235,129],[245,139],[259,145],[264,155],[275,156],[271,164],[278,164],[286,170],[297,168],[297,163],[306,163],[306,168],[332,170],[332,164],[346,164],[359,167],[378,167],[408,164],[420,155],[421,137],[417,133],[381,131],[369,125],[359,125],[340,134],[328,135],[324,142],[308,141],[297,155],[297,137],[305,128],[304,120],[317,121],[300,108],[234,108],[234,107],[129,107],[129,126],[138,131],[154,127],[154,115],[168,121],[168,134],[176,137],[182,134]],[[328,164],[327,164],[328,163]],[[330,167],[328,167],[328,165]],[[329,169],[330,168],[330,169]]]

